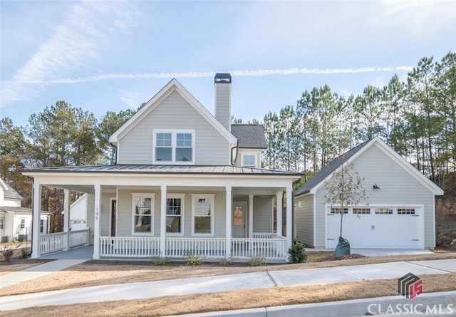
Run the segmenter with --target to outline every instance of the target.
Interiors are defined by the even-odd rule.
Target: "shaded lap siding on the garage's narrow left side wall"
[[[296,239],[314,246],[314,195],[304,194],[295,199]]]

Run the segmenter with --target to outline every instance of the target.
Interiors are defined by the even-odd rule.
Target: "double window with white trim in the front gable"
[[[195,164],[195,130],[154,130],[154,164]]]

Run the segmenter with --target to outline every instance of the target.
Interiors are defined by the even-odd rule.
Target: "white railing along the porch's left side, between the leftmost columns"
[[[75,246],[88,245],[89,229],[76,230],[69,232],[69,241],[67,232],[56,232],[53,234],[40,235],[40,254],[46,254],[63,249],[70,249]],[[68,241],[68,245],[67,245]]]

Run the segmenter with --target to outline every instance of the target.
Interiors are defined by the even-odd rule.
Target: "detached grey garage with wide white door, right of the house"
[[[367,205],[343,214],[343,237],[352,248],[433,249],[435,195],[442,189],[378,137],[336,158],[295,192],[296,238],[308,246],[335,248],[341,207],[325,203],[325,180],[344,160],[364,178]]]

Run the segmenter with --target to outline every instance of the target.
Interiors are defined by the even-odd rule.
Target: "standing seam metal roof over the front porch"
[[[301,177],[299,172],[266,170],[232,165],[90,165],[65,167],[38,167],[21,172],[71,172],[71,173],[145,173],[145,174],[214,174],[214,175],[282,175]]]

